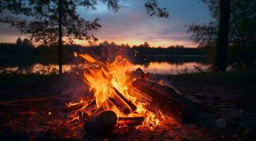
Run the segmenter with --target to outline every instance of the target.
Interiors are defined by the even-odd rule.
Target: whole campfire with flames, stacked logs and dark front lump
[[[162,121],[189,122],[195,119],[197,105],[173,87],[156,82],[150,73],[117,56],[114,61],[101,61],[89,54],[77,54],[90,64],[83,72],[85,85],[93,97],[66,104],[71,123],[83,123],[91,135],[106,135],[126,128],[154,129]],[[79,74],[79,73],[78,73]]]

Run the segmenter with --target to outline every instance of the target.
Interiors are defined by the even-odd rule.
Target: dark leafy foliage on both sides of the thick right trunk
[[[199,47],[205,48],[214,56],[217,40],[217,27],[219,25],[219,1],[202,0],[207,4],[211,14],[211,21],[207,24],[192,24],[188,32],[193,33],[190,37]],[[252,64],[255,61],[256,44],[256,1],[254,0],[233,0],[231,1],[231,19],[229,30],[229,63],[243,62]],[[243,57],[236,58],[242,55]]]

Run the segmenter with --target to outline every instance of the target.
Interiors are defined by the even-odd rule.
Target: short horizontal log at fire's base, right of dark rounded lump
[[[145,116],[118,117],[118,126],[137,126],[145,121]]]

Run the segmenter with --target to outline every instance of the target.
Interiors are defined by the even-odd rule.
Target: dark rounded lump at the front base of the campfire
[[[108,135],[116,128],[117,116],[114,111],[102,111],[85,121],[84,129],[90,135]]]

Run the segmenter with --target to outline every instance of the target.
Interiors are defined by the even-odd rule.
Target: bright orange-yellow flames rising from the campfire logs
[[[90,92],[94,93],[97,108],[102,106],[109,97],[113,96],[113,87],[115,87],[118,92],[123,94],[123,97],[126,97],[137,107],[135,112],[126,116],[134,116],[134,113],[146,115],[144,125],[150,125],[150,128],[159,124],[159,120],[154,113],[144,109],[143,103],[137,102],[136,97],[128,94],[130,84],[133,82],[133,79],[127,73],[128,68],[133,65],[130,61],[123,59],[121,56],[117,56],[114,62],[102,62],[89,54],[78,54],[78,56],[85,59],[88,63],[97,64],[97,66],[88,68],[84,73],[84,81],[90,86]],[[114,111],[117,116],[125,116],[115,106],[112,108],[108,107],[107,110]]]

